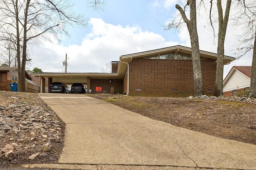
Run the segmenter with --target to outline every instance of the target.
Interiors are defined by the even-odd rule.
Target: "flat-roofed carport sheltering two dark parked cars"
[[[82,83],[87,85],[87,89],[96,93],[96,87],[101,87],[101,92],[123,93],[123,75],[118,73],[37,73],[32,74],[40,77],[40,92],[45,93],[45,87],[50,86],[52,82],[64,82],[67,85],[73,83]],[[48,84],[45,79],[48,78]]]

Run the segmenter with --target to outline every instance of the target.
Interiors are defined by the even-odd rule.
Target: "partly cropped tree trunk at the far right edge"
[[[256,27],[255,27],[256,33]],[[254,37],[253,53],[252,53],[252,76],[250,85],[250,97],[256,98],[256,37]]]

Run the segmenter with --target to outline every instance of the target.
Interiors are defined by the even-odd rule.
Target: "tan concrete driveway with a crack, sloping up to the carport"
[[[176,127],[83,94],[39,96],[66,123],[59,164],[92,169],[94,165],[256,169],[256,145]]]

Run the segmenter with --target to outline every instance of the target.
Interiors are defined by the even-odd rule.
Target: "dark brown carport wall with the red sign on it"
[[[110,93],[111,87],[114,87],[114,94],[117,94],[117,93],[122,94],[123,84],[124,84],[124,81],[122,79],[121,80],[111,79],[111,83],[109,83],[109,79],[90,79],[90,89],[92,89],[92,94],[96,93],[96,87],[101,87],[102,91],[99,93],[104,93],[104,92]],[[87,85],[88,85],[88,81],[87,81]]]

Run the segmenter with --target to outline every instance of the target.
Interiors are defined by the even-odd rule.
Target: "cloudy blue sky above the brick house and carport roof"
[[[63,35],[62,43],[44,42],[40,47],[33,47],[28,69],[38,67],[43,72],[64,72],[62,61],[67,53],[67,72],[101,72],[101,67],[119,61],[121,55],[173,45],[191,47],[186,27],[166,31],[162,26],[177,12],[178,0],[107,0],[103,11],[89,8],[85,0],[73,2],[74,10],[89,19],[88,26],[69,27],[70,37]],[[216,53],[207,12],[202,12],[197,27],[200,49]],[[228,27],[225,55],[231,57],[237,57],[234,55],[235,34],[234,27]],[[224,66],[224,76],[233,65],[251,65],[251,61],[252,57],[247,56]]]

